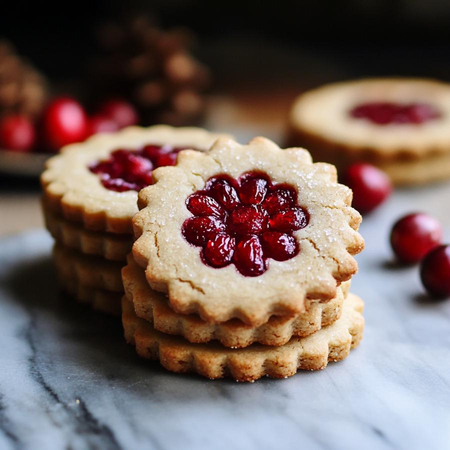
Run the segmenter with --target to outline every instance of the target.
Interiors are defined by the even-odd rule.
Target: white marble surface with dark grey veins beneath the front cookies
[[[117,320],[58,297],[45,231],[1,240],[0,448],[449,448],[450,300],[429,301],[387,244],[393,220],[418,209],[450,240],[449,199],[449,184],[397,191],[364,219],[359,348],[253,384],[141,361]]]

